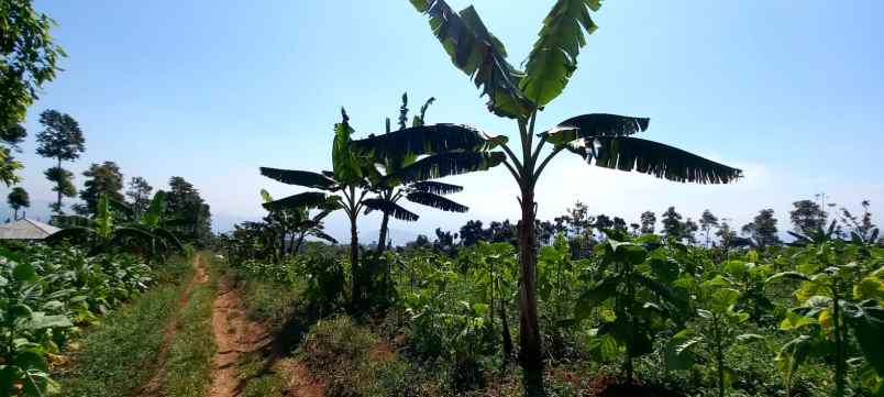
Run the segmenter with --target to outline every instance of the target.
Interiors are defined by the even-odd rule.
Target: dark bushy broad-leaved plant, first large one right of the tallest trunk
[[[599,277],[581,294],[575,319],[598,311],[601,323],[590,332],[590,349],[603,360],[623,351],[623,373],[632,382],[633,361],[654,351],[654,338],[678,317],[685,302],[658,279],[658,266],[675,265],[662,261],[662,249],[649,253],[642,240],[632,242],[626,233],[605,232],[608,240],[596,247]]]

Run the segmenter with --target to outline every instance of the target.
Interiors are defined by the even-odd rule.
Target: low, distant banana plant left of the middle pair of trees
[[[273,197],[269,192],[267,192],[267,190],[261,189],[261,197],[264,199],[265,203],[274,201]],[[333,203],[320,203],[319,207],[321,211],[312,217],[310,216],[310,208],[306,206],[274,210],[270,211],[267,217],[265,217],[265,222],[267,222],[267,224],[272,228],[276,229],[279,233],[280,256],[285,256],[286,253],[298,253],[301,244],[303,244],[303,240],[308,236],[313,236],[325,240],[332,244],[338,244],[338,240],[334,240],[334,238],[327,234],[322,225],[322,220],[325,219],[325,217],[328,217],[333,210],[335,210],[336,206]],[[286,238],[288,238],[288,240],[286,240]]]

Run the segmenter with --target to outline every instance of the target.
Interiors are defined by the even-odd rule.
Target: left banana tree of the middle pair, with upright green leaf
[[[269,211],[291,208],[320,208],[333,206],[342,209],[350,220],[350,266],[352,275],[352,300],[357,302],[363,298],[363,273],[360,266],[360,241],[356,220],[365,209],[365,198],[372,191],[368,180],[371,166],[365,158],[351,150],[350,118],[341,109],[342,120],[334,124],[334,141],[332,143],[331,172],[313,173],[308,170],[292,170],[261,167],[261,175],[288,185],[296,185],[321,191],[306,191],[283,199],[265,202],[263,206]]]

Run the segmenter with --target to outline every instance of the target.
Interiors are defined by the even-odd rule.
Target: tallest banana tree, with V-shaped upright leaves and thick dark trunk
[[[537,203],[534,188],[550,161],[562,152],[581,156],[589,164],[620,170],[637,170],[675,181],[723,184],[741,172],[688,152],[631,135],[648,129],[649,119],[617,114],[583,114],[537,132],[538,113],[562,93],[574,70],[577,56],[586,44],[585,34],[596,24],[590,13],[600,0],[556,0],[543,20],[538,40],[524,70],[507,60],[504,44],[482,22],[473,7],[455,12],[443,0],[410,0],[429,15],[430,27],[454,65],[471,77],[488,110],[512,119],[518,126],[519,145],[506,152],[504,163],[519,186],[519,262],[521,283],[520,362],[527,395],[543,395],[543,354],[538,326],[534,242]],[[428,141],[419,141],[426,137]],[[398,131],[364,142],[365,146],[385,147],[395,142],[432,145],[433,135]],[[551,150],[544,151],[546,146]]]

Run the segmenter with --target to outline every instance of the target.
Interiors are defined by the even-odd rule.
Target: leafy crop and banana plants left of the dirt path
[[[67,364],[71,341],[156,284],[172,255],[192,256],[183,230],[194,224],[174,218],[167,202],[157,191],[135,213],[101,194],[95,216],[56,216],[65,229],[43,243],[0,246],[2,395],[64,393],[51,374]]]

